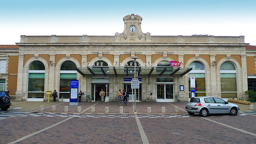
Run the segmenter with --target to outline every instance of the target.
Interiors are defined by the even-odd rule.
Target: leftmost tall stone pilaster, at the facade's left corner
[[[23,76],[23,62],[24,54],[18,54],[18,76],[17,76],[17,90],[16,90],[16,99],[15,101],[22,101],[22,76]]]

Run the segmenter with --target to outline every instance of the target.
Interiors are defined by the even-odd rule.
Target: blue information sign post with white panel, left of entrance
[[[78,106],[78,82],[79,80],[70,80],[70,106]]]

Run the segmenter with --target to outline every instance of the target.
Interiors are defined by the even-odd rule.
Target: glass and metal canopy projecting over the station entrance
[[[82,76],[134,76],[134,67],[100,66],[75,68]],[[138,76],[184,76],[192,68],[170,66],[136,67]]]

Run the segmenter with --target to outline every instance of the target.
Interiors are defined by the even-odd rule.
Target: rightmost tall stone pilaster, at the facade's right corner
[[[246,66],[246,55],[241,55],[242,61],[242,99],[248,99],[248,94],[245,92],[248,90],[247,82],[247,66]]]

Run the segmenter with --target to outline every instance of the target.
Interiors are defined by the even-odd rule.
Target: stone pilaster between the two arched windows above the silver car
[[[211,96],[218,97],[216,81],[216,65],[214,65],[215,54],[210,55],[210,72],[211,72]]]

